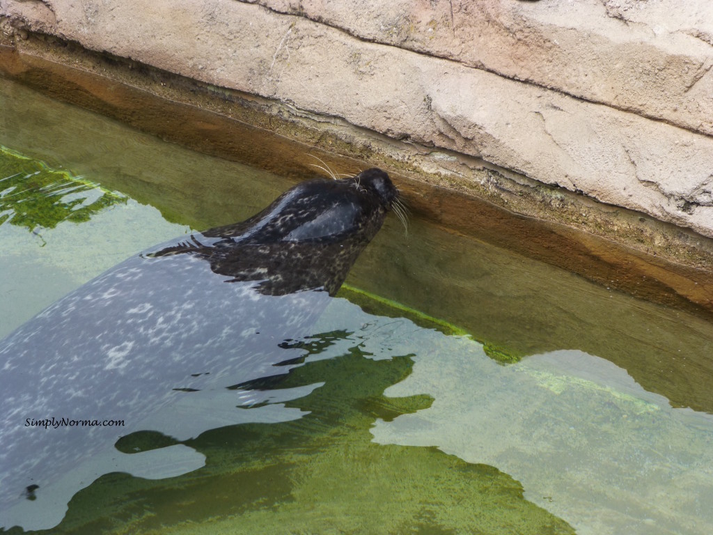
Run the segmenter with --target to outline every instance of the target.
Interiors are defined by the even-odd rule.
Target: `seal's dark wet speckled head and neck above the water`
[[[311,180],[241,223],[212,228],[152,256],[187,253],[235,281],[262,281],[257,291],[334,295],[384,223],[399,192],[380,169],[353,178]]]

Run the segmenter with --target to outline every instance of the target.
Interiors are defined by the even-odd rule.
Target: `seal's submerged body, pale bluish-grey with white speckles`
[[[67,487],[77,483],[67,474],[86,476],[81,467],[95,462],[91,459],[99,459],[97,466],[108,472],[149,477],[130,467],[132,459],[102,464],[104,452],[121,435],[145,429],[156,413],[160,418],[164,407],[187,394],[185,389],[209,390],[265,374],[275,363],[279,342],[298,337],[329,298],[324,292],[256,297],[250,283],[225,284],[225,277],[196,258],[133,258],[6,338],[0,345],[6,409],[0,427],[3,505],[21,503],[24,515],[28,504],[22,489],[40,488],[34,502],[39,509],[29,516],[3,515],[1,524],[29,529],[56,524],[63,505],[92,481],[85,477],[80,486]],[[24,427],[26,418],[51,417],[124,424]],[[108,459],[113,461],[111,455]],[[192,459],[186,466],[200,464]],[[95,478],[103,473],[91,472]],[[44,496],[58,505],[51,511],[43,507]]]

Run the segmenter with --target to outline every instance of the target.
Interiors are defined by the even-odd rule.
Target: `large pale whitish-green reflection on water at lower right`
[[[582,534],[713,532],[713,417],[674,409],[625,370],[579,351],[503,367],[476,345],[416,357],[387,395],[424,411],[380,421],[381,444],[434,446],[511,474]]]

